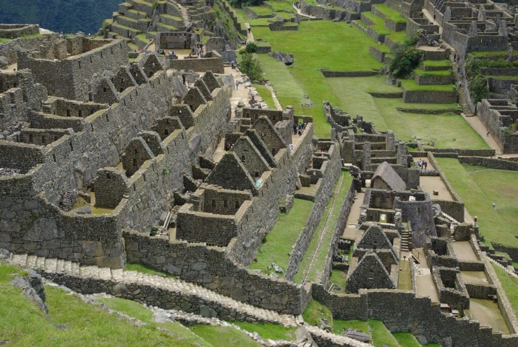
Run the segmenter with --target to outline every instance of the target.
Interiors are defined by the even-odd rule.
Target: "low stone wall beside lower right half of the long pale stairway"
[[[235,300],[281,313],[300,314],[303,288],[284,279],[252,272],[226,256],[224,249],[202,243],[124,232],[128,262],[145,264],[205,286]]]

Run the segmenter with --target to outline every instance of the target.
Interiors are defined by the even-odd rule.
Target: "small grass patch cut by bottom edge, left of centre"
[[[232,327],[212,326],[212,325],[196,325],[190,327],[194,334],[202,337],[204,340],[214,346],[242,346],[242,347],[259,347],[260,343],[252,340],[244,332]]]

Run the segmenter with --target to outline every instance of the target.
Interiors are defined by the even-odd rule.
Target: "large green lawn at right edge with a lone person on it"
[[[480,234],[486,242],[518,247],[514,235],[518,222],[518,172],[460,164],[454,158],[437,158],[471,216],[478,216]],[[492,208],[495,203],[497,209]]]

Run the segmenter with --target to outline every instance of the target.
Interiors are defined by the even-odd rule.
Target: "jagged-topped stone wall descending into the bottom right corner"
[[[360,290],[359,295],[339,295],[313,284],[312,295],[331,309],[335,319],[381,320],[390,331],[410,331],[425,337],[428,343],[458,347],[511,347],[518,343],[516,335],[493,334],[490,327],[481,327],[477,321],[445,315],[437,303],[431,303],[428,297],[416,297],[413,292]]]

